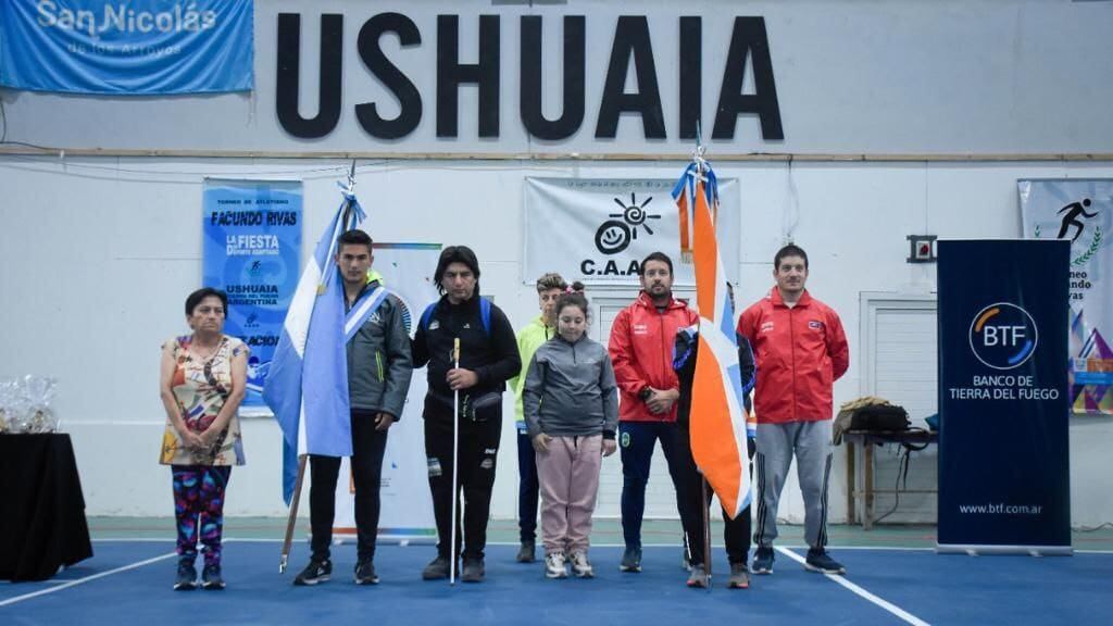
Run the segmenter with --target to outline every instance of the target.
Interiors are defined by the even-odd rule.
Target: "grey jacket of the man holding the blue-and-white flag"
[[[378,282],[368,283],[368,297]],[[356,301],[358,302],[358,300]],[[410,334],[402,321],[402,303],[390,294],[347,342],[348,397],[353,410],[383,411],[402,417],[410,392],[413,360]]]

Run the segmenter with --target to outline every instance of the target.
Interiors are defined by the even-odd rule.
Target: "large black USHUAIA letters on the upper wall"
[[[435,46],[435,94],[423,94],[411,76],[400,69],[396,61],[405,55],[416,53],[415,48],[429,45],[427,33],[423,33],[413,19],[394,12],[372,16],[359,28],[355,41],[344,39],[343,14],[319,16],[321,50],[308,51],[302,46],[302,13],[278,14],[277,37],[277,85],[275,107],[282,127],[295,137],[319,138],[331,134],[344,114],[342,102],[344,88],[344,63],[359,62],[372,75],[368,80],[380,82],[388,92],[388,108],[397,109],[392,117],[384,117],[381,102],[357,102],[354,113],[359,127],[377,139],[400,139],[413,133],[422,120],[432,98],[436,116],[436,137],[457,136],[460,118],[460,91],[463,87],[477,87],[476,110],[479,137],[499,137],[503,121],[500,110],[502,87],[501,67],[503,52],[501,30],[502,16],[477,16],[477,61],[461,62],[462,56],[472,57],[475,50],[462,51],[460,46],[461,16],[436,16],[433,46]],[[470,19],[470,18],[469,18]],[[646,139],[669,137],[667,119],[674,119],[672,136],[681,139],[696,137],[702,107],[702,77],[710,76],[702,70],[705,58],[702,18],[682,16],[677,18],[677,61],[679,72],[658,72],[653,42],[650,37],[649,18],[646,16],[618,17],[611,33],[610,57],[607,71],[602,76],[599,101],[587,101],[588,71],[588,18],[565,16],[562,21],[563,41],[560,46],[562,63],[554,59],[542,62],[541,16],[518,18],[518,50],[521,76],[518,81],[518,115],[531,137],[543,140],[561,140],[581,130],[589,107],[598,113],[593,136],[597,139],[614,138],[620,116],[641,118]],[[597,18],[599,19],[599,18]],[[316,16],[312,20],[317,22]],[[599,26],[595,29],[600,28]],[[608,30],[610,27],[608,26]],[[392,59],[383,47],[398,46]],[[395,43],[397,42],[397,43]],[[760,123],[764,140],[785,138],[780,106],[777,101],[777,86],[774,80],[772,59],[769,52],[769,37],[762,17],[736,17],[729,46],[718,49],[722,41],[716,41],[716,49],[707,58],[726,58],[719,82],[716,114],[703,131],[712,139],[735,138],[739,116],[754,116]],[[318,85],[311,86],[311,92],[318,94],[316,115],[305,117],[298,110],[299,65],[302,55],[319,58]],[[594,60],[592,62],[595,62]],[[752,92],[743,92],[746,71],[752,67]],[[637,79],[637,87],[627,90],[630,74]],[[667,82],[662,84],[662,80]],[[543,90],[552,89],[561,95],[559,115],[546,115],[542,110]],[[678,110],[666,117],[661,102],[664,90],[677,95]],[[597,92],[597,91],[592,91]],[[548,107],[545,107],[548,108]],[[708,130],[710,133],[708,134]]]

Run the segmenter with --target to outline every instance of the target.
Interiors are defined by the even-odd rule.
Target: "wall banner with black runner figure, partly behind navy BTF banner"
[[[1113,179],[1020,180],[1026,237],[1071,242],[1070,372],[1075,413],[1113,414]]]

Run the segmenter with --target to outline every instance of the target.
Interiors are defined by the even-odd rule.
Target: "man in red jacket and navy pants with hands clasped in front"
[[[626,552],[622,571],[641,571],[641,518],[646,510],[646,483],[653,447],[669,463],[669,476],[681,496],[683,466],[677,428],[680,381],[672,369],[672,344],[677,330],[695,324],[699,316],[672,297],[672,260],[654,252],[640,266],[641,293],[619,312],[611,326],[610,354],[619,384],[619,446],[622,457],[622,536]]]

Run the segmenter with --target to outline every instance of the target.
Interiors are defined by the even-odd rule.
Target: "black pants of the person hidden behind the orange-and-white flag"
[[[696,460],[692,458],[691,431],[688,429],[688,423],[678,426],[681,446],[677,446],[677,457],[683,467],[682,493],[678,495],[678,499],[683,502],[680,510],[680,521],[684,527],[689,563],[703,565],[708,557],[703,554],[703,515],[711,506],[711,489],[708,487],[708,499],[703,499],[703,476],[697,469]],[[752,441],[748,443],[749,453],[752,457],[754,443]],[[727,545],[727,559],[731,564],[745,564],[750,551],[750,507],[742,509],[735,519],[730,519],[722,507],[719,508],[722,513],[722,539]]]

